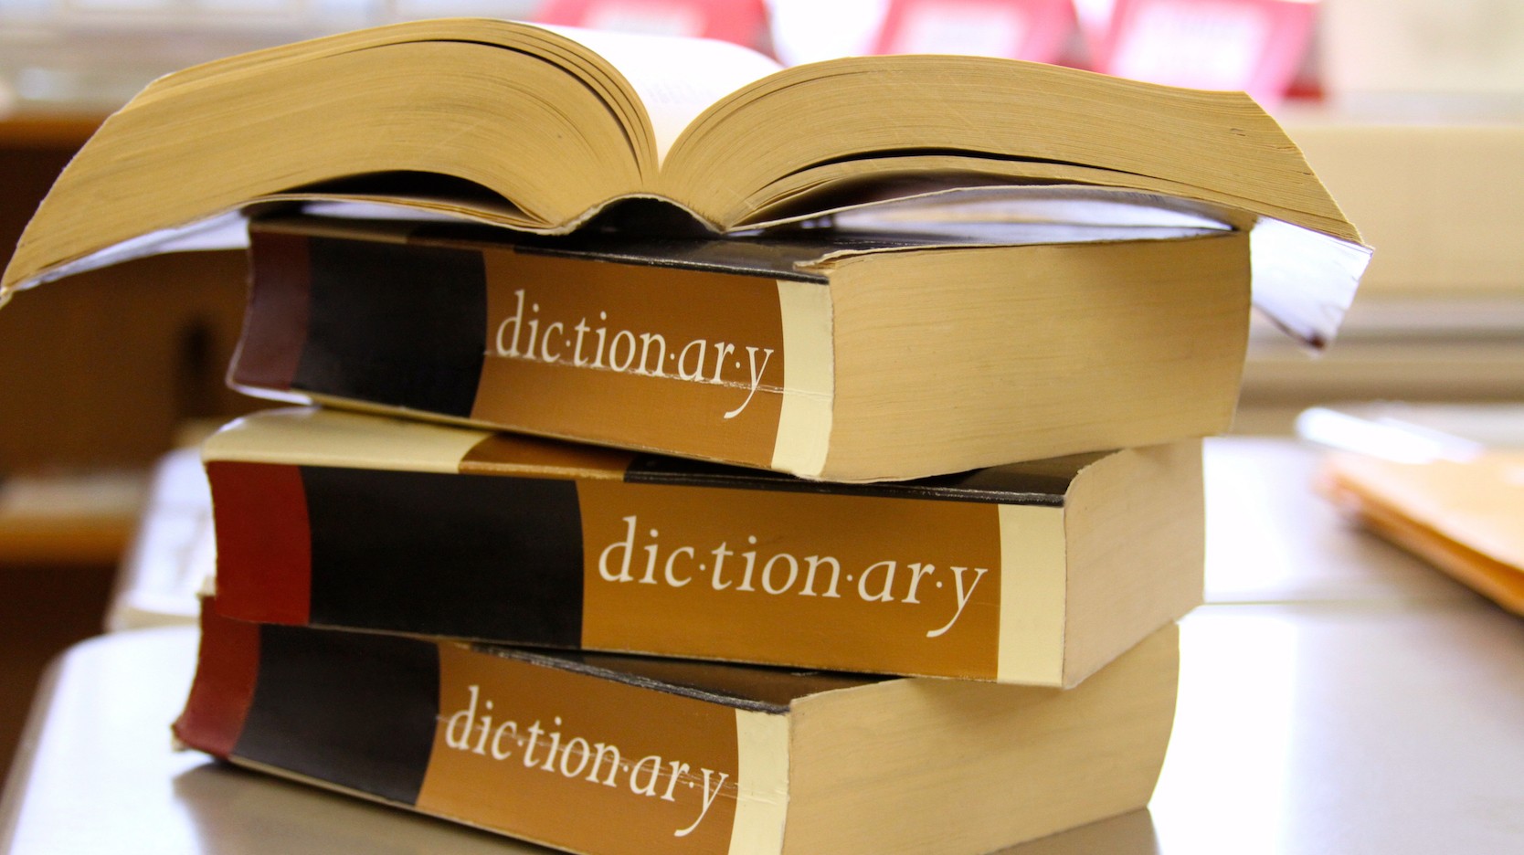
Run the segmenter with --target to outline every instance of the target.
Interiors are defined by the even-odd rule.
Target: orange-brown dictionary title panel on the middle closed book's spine
[[[584,482],[582,643],[994,678],[998,504]]]

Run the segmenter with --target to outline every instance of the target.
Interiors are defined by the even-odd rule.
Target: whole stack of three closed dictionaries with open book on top
[[[59,178],[6,294],[256,212],[230,381],[317,404],[204,447],[186,745],[590,853],[1148,802],[1251,296],[1324,341],[1358,235],[1244,98],[738,50],[366,30]]]

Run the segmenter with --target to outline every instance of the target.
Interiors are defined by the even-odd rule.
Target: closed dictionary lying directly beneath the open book
[[[256,221],[230,381],[835,482],[1231,424],[1242,232],[1032,224],[1003,247],[820,232],[509,241]]]

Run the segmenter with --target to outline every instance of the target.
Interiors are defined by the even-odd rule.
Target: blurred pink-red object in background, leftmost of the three
[[[622,32],[696,35],[760,47],[767,32],[762,0],[547,0],[535,20]]]

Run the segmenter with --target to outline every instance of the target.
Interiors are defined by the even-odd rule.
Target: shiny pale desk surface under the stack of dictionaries
[[[1312,451],[1210,444],[1210,605],[1181,625],[1175,738],[1148,811],[1018,846],[1108,852],[1524,850],[1524,622],[1343,529]],[[189,626],[53,668],[0,802],[32,852],[541,849],[174,753]]]

